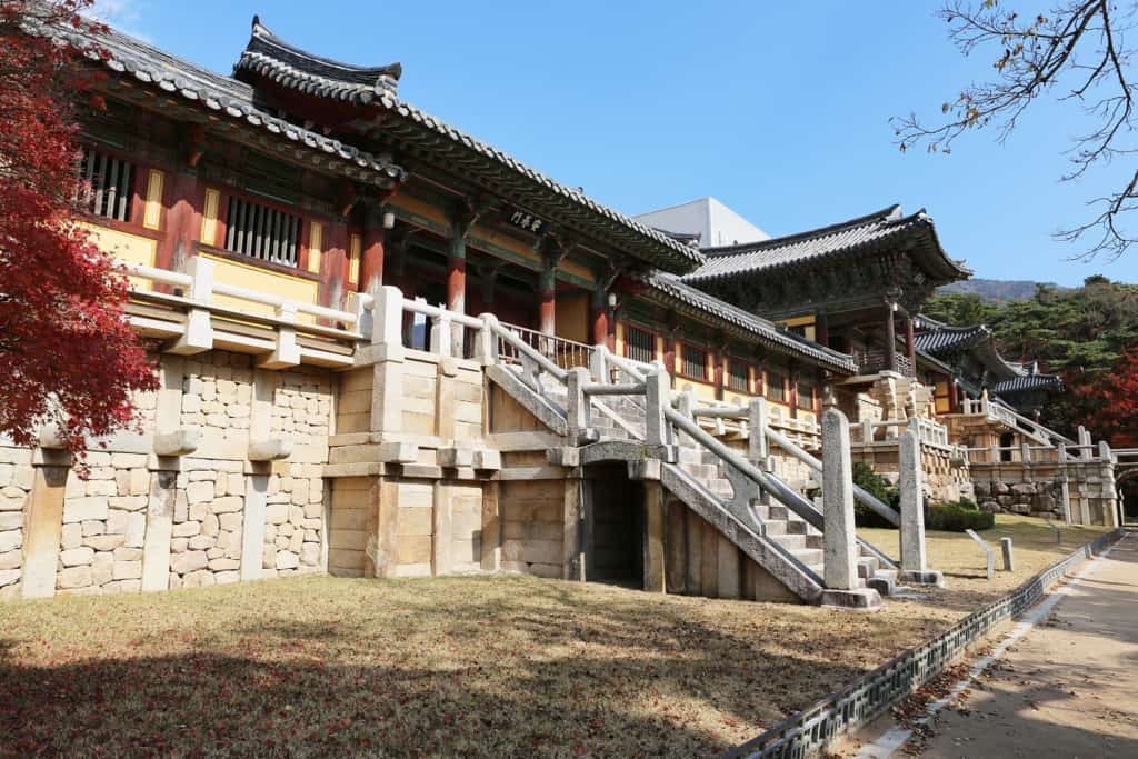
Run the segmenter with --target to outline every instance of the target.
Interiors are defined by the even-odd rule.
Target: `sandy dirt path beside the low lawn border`
[[[940,712],[931,735],[892,756],[1138,757],[1136,683],[1138,534],[1131,534]],[[891,726],[879,720],[835,754],[884,759],[869,742]]]

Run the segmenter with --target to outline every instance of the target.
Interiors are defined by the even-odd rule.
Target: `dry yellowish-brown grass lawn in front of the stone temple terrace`
[[[949,588],[871,614],[521,576],[0,604],[0,754],[704,756],[1098,534],[1033,525],[984,534],[1019,561],[990,585],[966,536],[931,534]]]

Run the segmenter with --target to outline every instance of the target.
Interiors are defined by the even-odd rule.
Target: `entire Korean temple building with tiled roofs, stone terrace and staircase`
[[[0,597],[505,570],[874,605],[930,574],[864,539],[855,575],[826,566],[846,447],[930,502],[1116,523],[1110,449],[996,397],[1046,376],[920,316],[968,275],[923,211],[767,238],[708,203],[669,229],[411,105],[397,63],[258,18],[232,75],[97,42],[81,223],[162,388],[89,480],[51,430],[0,440],[25,513]]]

